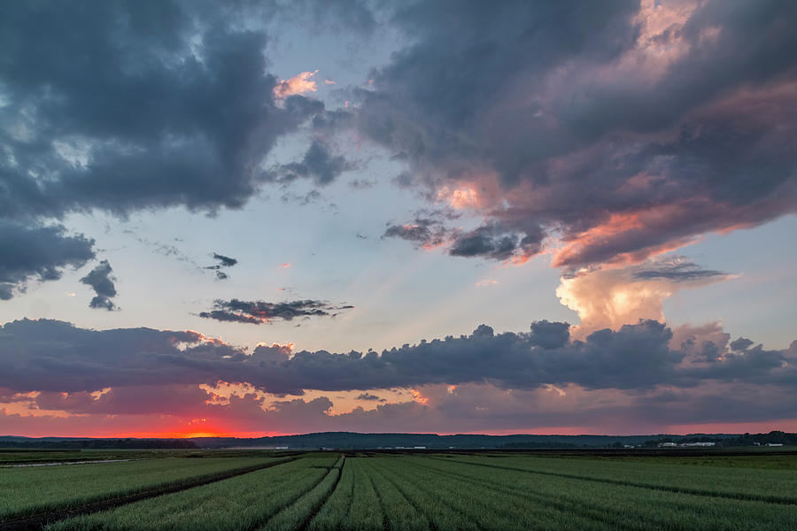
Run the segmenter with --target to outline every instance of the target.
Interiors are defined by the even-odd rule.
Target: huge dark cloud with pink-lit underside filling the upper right
[[[669,6],[401,4],[410,44],[341,127],[405,161],[405,187],[476,192],[503,234],[458,256],[531,256],[512,237],[543,227],[575,270],[795,212],[797,4]]]

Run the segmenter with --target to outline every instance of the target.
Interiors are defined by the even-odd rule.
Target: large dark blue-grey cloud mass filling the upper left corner
[[[68,212],[243,206],[267,179],[259,165],[276,140],[324,110],[303,96],[275,104],[267,35],[240,23],[265,24],[275,11],[171,1],[0,5],[0,220],[41,236],[50,230],[44,220]],[[0,257],[0,271],[11,272],[0,296],[23,289],[30,274],[50,280],[59,266],[92,258],[88,240],[47,237],[55,250],[36,263],[20,269],[12,254]]]

